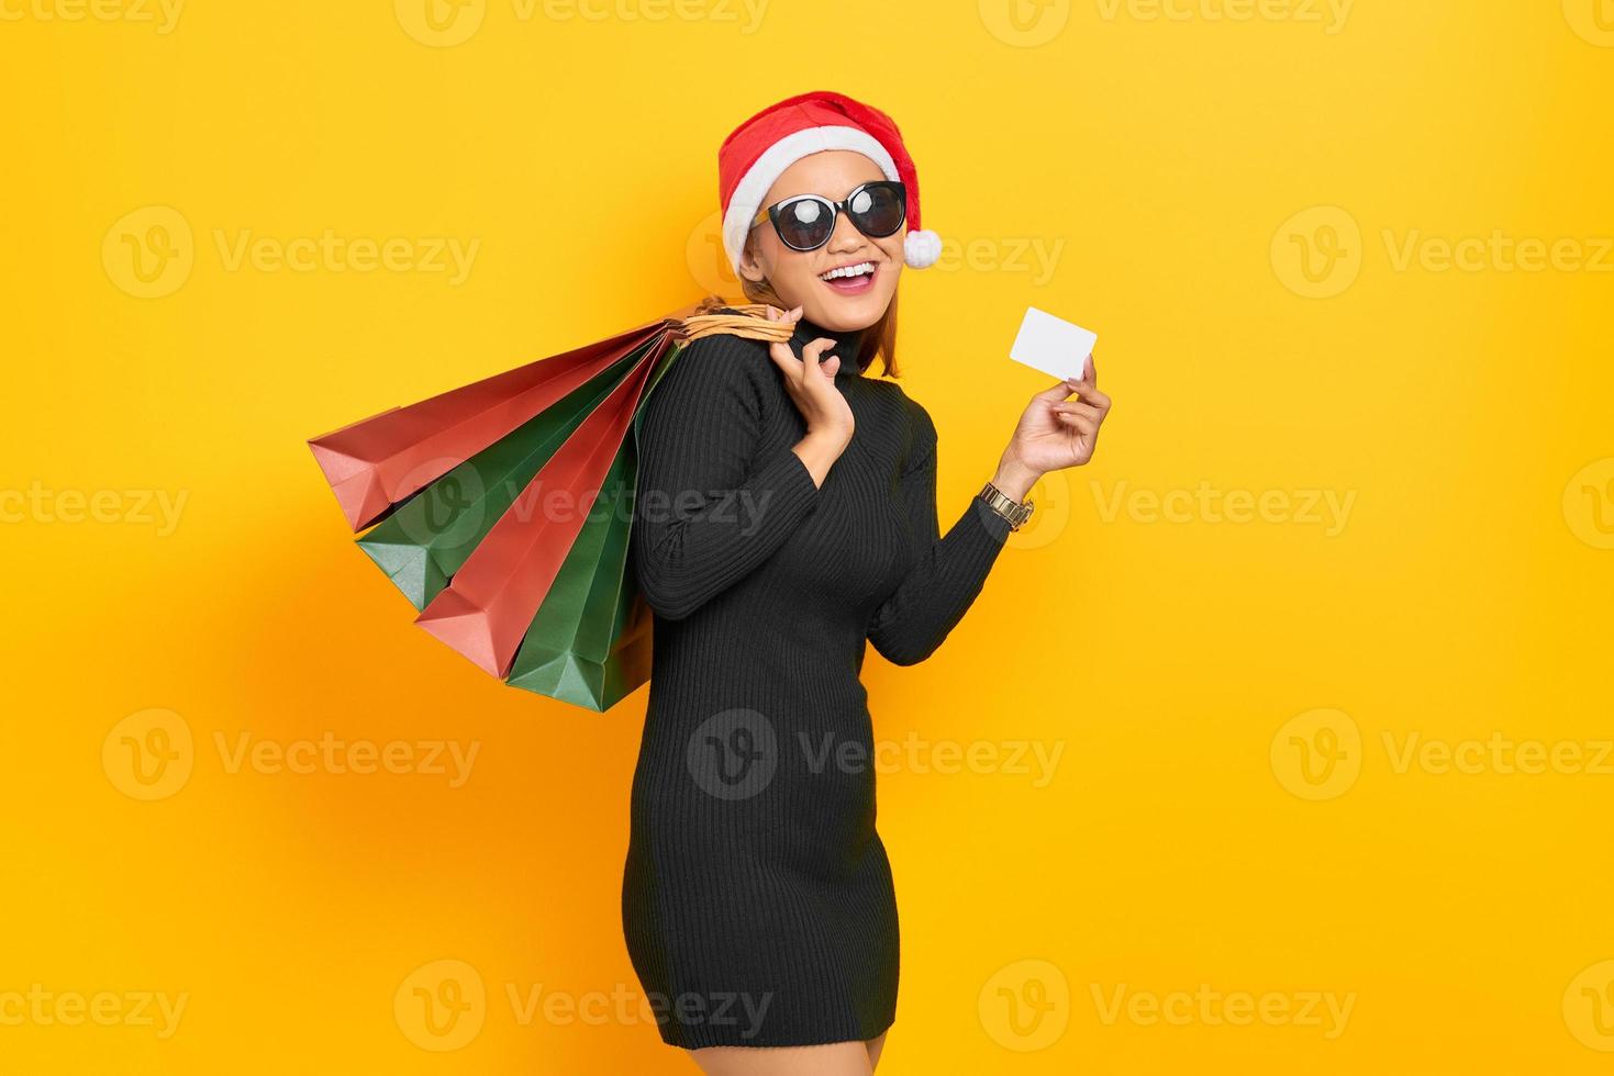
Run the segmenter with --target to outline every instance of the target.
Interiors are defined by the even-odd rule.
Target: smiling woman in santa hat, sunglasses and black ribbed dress
[[[805,94],[741,124],[718,163],[731,263],[794,336],[696,340],[646,405],[633,566],[655,644],[623,929],[662,1039],[704,1071],[872,1073],[897,913],[865,642],[928,657],[1031,484],[1093,455],[1109,398],[1091,373],[1033,397],[941,537],[935,426],[868,371],[878,355],[896,373],[902,266],[939,252],[896,126]]]

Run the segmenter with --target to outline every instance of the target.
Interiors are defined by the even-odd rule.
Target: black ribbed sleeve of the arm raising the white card
[[[1009,521],[970,497],[946,537],[936,523],[936,427],[915,408],[914,463],[902,476],[902,510],[915,560],[897,589],[875,611],[868,640],[894,665],[917,665],[943,644],[986,584],[1009,537]]]

